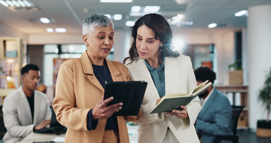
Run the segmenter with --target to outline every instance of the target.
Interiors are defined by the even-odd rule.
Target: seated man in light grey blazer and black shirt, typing
[[[21,141],[33,130],[50,125],[52,112],[46,94],[35,90],[40,80],[37,65],[27,64],[21,69],[22,86],[9,94],[3,103],[3,118],[7,132],[4,143]]]

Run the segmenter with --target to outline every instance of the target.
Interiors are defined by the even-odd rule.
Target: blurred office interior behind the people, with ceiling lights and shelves
[[[232,105],[244,105],[239,142],[271,142],[256,136],[257,121],[267,119],[257,97],[271,67],[271,0],[0,0],[1,98],[20,85],[19,69],[35,63],[52,102],[59,65],[84,52],[82,21],[95,13],[114,23],[108,59],[119,62],[127,57],[134,22],[147,13],[163,15],[175,48],[191,57],[194,69],[212,68],[214,85]]]

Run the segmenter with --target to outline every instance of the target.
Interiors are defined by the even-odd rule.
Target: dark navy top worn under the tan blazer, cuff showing
[[[92,65],[92,68],[93,68],[95,77],[97,78],[97,80],[99,81],[99,83],[102,85],[103,88],[105,88],[105,81],[113,81],[106,63],[105,63],[105,66]],[[92,121],[91,114],[92,114],[92,109],[88,113],[87,127],[88,127],[88,130],[95,130],[98,123],[97,121]],[[118,129],[119,128],[118,128],[117,116],[110,116],[106,121],[105,130],[118,130]]]

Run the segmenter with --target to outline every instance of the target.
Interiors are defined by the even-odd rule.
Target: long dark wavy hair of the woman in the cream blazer
[[[139,18],[135,25],[130,28],[130,31],[132,32],[132,46],[129,50],[128,57],[126,57],[123,61],[123,63],[126,62],[126,60],[130,60],[130,63],[133,63],[134,57],[138,57],[137,49],[136,49],[136,37],[137,37],[137,29],[141,25],[146,25],[150,29],[152,29],[155,32],[155,39],[160,38],[159,40],[163,42],[162,47],[162,54],[165,57],[178,57],[180,55],[179,51],[173,51],[172,49],[172,30],[169,26],[169,23],[166,21],[166,19],[156,13],[150,13],[142,16]],[[130,64],[129,63],[129,64]]]

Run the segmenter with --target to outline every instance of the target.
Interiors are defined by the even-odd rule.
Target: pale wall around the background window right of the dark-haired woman
[[[217,84],[228,84],[228,65],[234,61],[234,31],[212,32],[212,33],[192,33],[183,34],[174,30],[175,38],[180,38],[185,44],[215,44],[217,69]]]

